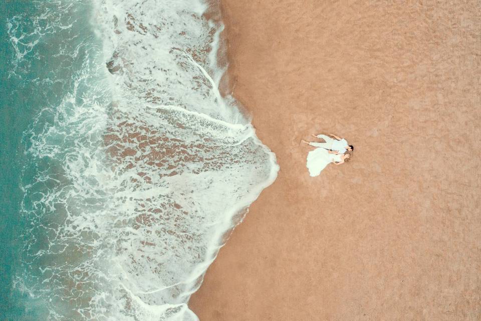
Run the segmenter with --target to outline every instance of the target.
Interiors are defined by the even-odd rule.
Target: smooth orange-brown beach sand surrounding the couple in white
[[[389,2],[391,3],[391,2]],[[481,5],[222,1],[276,152],[190,307],[210,320],[481,319]],[[355,146],[309,177],[310,133]]]

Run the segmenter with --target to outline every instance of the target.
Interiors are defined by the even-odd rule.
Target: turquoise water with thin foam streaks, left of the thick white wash
[[[2,216],[0,233],[0,319],[47,319],[48,311],[19,285],[23,275],[35,275],[25,251],[32,240],[32,217],[26,215],[38,172],[52,159],[35,159],[28,152],[32,136],[52,124],[63,97],[72,92],[89,43],[95,50],[86,4],[66,9],[58,2],[9,1],[0,4],[2,86]],[[69,17],[70,16],[70,17]],[[72,25],[62,30],[61,26]],[[75,31],[74,31],[75,30]],[[87,46],[84,46],[87,48]],[[72,53],[79,49],[75,55]]]

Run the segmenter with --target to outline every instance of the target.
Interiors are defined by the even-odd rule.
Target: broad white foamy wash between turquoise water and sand
[[[196,320],[190,294],[276,157],[218,90],[223,26],[204,2],[95,4],[102,51],[30,133],[48,165],[25,187],[42,273],[23,286],[54,320]]]

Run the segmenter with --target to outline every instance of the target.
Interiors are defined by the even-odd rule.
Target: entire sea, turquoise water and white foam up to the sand
[[[191,293],[278,171],[225,89],[217,4],[1,13],[0,319],[196,320]]]

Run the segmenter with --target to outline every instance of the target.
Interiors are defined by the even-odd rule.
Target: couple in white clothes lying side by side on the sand
[[[350,161],[354,146],[349,145],[346,139],[338,137],[333,134],[329,135],[314,135],[316,138],[324,139],[325,142],[305,141],[303,143],[318,147],[311,150],[307,155],[307,168],[311,176],[318,176],[322,170],[330,163],[341,165],[344,162]]]

